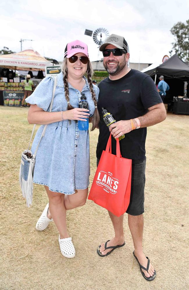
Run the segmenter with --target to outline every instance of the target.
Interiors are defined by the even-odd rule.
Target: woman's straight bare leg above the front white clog
[[[65,195],[63,193],[50,191],[48,186],[44,187],[49,197],[49,213],[47,216],[48,218],[53,218],[60,233],[60,239],[69,238],[66,226],[66,209],[64,205]]]

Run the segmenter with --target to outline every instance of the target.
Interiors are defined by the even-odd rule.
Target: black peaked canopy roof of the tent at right
[[[167,78],[177,78],[188,80],[189,79],[189,65],[182,61],[178,55],[173,55],[163,64],[160,64],[156,68],[145,71],[147,75],[163,75]]]

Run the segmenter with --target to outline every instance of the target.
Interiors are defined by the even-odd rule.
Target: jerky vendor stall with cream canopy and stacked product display
[[[32,49],[23,50],[18,53],[0,56],[0,67],[19,71],[44,71],[45,66],[52,65],[47,59],[42,57],[37,51]],[[39,75],[39,73],[38,73]],[[43,74],[41,74],[43,76]],[[34,87],[39,81],[32,79]],[[23,82],[19,78],[1,77],[0,81],[0,104],[4,106],[21,106],[24,97]]]

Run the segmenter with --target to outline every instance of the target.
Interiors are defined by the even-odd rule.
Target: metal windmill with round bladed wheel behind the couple
[[[93,35],[92,35],[93,33]],[[85,35],[92,36],[93,41],[95,44],[101,46],[103,43],[105,43],[105,40],[108,36],[110,36],[108,30],[106,28],[97,28],[94,32],[92,30],[85,29]],[[97,58],[97,66],[99,62],[99,56],[100,56],[100,51],[98,51],[98,58]],[[96,69],[98,69],[96,66]]]

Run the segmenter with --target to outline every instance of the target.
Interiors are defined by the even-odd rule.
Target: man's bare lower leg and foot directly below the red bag
[[[118,218],[116,215],[113,215],[113,213],[110,213],[110,211],[108,211],[108,213],[114,227],[115,237],[107,243],[107,247],[122,245],[124,243],[124,232],[123,232],[124,215],[121,215]],[[112,249],[105,250],[104,245],[105,243],[102,243],[100,247],[100,252],[102,255],[106,255],[108,252],[112,250]]]

